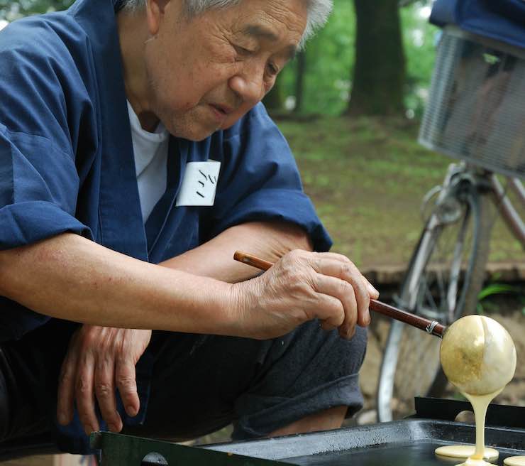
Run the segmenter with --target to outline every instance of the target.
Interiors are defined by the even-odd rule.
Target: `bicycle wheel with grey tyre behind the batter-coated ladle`
[[[409,263],[397,305],[441,323],[474,313],[490,237],[488,196],[468,183],[436,205]],[[414,396],[439,396],[441,340],[392,322],[380,371],[377,413],[391,421],[414,411]]]

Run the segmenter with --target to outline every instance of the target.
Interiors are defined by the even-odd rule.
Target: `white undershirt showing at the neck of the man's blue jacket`
[[[153,207],[166,191],[167,146],[170,134],[162,123],[158,124],[154,133],[145,131],[140,126],[138,116],[133,112],[129,102],[128,114],[135,154],[140,210],[145,223]]]

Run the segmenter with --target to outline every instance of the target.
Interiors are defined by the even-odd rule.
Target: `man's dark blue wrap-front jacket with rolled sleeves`
[[[158,263],[233,225],[285,220],[302,226],[316,250],[328,250],[289,147],[262,104],[204,141],[170,139],[167,190],[143,225],[115,10],[115,0],[79,0],[0,33],[0,249],[74,232]],[[214,206],[176,207],[186,163],[208,158],[222,163]],[[49,320],[6,298],[0,307],[0,341]],[[142,406],[149,371],[145,356],[137,367]],[[77,421],[57,429],[63,449],[89,449]]]

